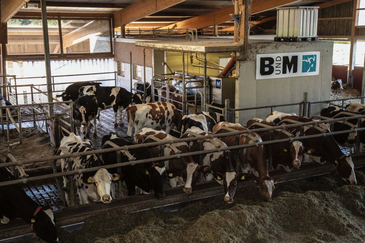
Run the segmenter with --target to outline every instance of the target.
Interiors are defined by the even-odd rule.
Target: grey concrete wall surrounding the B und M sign
[[[256,80],[256,54],[320,51],[319,75]],[[240,54],[243,56],[243,54]],[[247,60],[240,61],[236,81],[235,108],[296,103],[308,93],[308,101],[330,99],[333,42],[268,42],[251,43],[247,48]],[[321,105],[321,107],[326,104]],[[319,105],[312,106],[312,114],[318,114]],[[277,107],[285,113],[299,110],[299,106]],[[236,112],[236,122],[246,125],[254,117],[265,118],[268,109]]]

